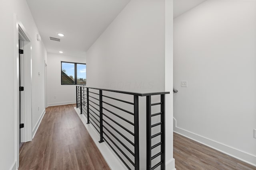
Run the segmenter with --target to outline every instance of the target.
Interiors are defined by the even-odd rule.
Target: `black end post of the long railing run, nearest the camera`
[[[139,96],[134,95],[134,164],[135,170],[140,169],[140,150],[139,150]]]

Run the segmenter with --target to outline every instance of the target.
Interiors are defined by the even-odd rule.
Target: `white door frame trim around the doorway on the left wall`
[[[32,141],[32,46],[24,25],[14,14],[14,150],[19,167],[19,39],[24,41],[24,128],[21,141]]]

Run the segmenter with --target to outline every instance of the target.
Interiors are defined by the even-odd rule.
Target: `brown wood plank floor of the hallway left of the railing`
[[[19,170],[110,170],[74,107],[46,109],[34,139],[22,146]]]

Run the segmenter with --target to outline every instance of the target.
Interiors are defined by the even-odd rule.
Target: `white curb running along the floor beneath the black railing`
[[[90,136],[92,137],[92,140],[100,150],[102,156],[106,160],[108,166],[111,170],[127,170],[127,168],[124,166],[124,164],[121,162],[121,160],[116,156],[116,154],[110,149],[108,144],[106,142],[99,143],[100,135],[98,132],[94,129],[94,127],[91,124],[87,123],[87,118],[84,116],[84,114],[80,114],[80,109],[74,107],[76,110],[76,113],[80,117],[81,121],[83,122],[84,126],[86,127],[87,131],[89,132]]]

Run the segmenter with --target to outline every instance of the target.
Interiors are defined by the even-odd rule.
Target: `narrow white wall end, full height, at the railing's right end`
[[[165,150],[166,170],[175,169],[173,158],[173,0],[165,0],[165,91],[170,94],[165,96]]]

